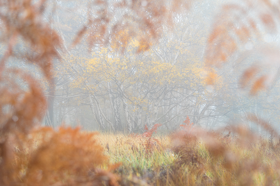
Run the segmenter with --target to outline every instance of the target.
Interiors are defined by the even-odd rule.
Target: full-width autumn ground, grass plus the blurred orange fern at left
[[[280,184],[278,136],[246,130],[236,137],[195,128],[125,135],[42,127],[7,139],[14,148],[1,146],[4,185]]]

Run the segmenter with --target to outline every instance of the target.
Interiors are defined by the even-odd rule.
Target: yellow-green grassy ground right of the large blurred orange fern
[[[278,139],[207,134],[103,133],[97,140],[120,185],[279,185]]]

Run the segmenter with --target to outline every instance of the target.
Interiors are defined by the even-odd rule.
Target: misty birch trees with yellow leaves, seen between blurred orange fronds
[[[242,81],[250,84],[242,77],[244,70],[264,59],[250,48],[267,43],[276,48],[277,37],[267,43],[255,39],[246,50],[241,43],[227,64],[211,67],[217,73],[212,77],[204,63],[207,38],[225,2],[189,1],[190,9],[165,20],[172,24],[163,21],[152,31],[141,29],[141,17],[117,3],[108,0],[96,6],[90,1],[53,0],[44,5],[45,21],[62,38],[60,58],[54,61],[55,87],[42,80],[48,97],[44,125],[65,122],[88,130],[139,132],[145,125],[161,123],[163,129],[174,130],[189,116],[190,122],[207,130],[241,123],[261,131],[248,120],[250,114],[278,125],[278,80],[256,94],[242,86]],[[100,15],[106,25],[103,35],[93,32],[100,22],[87,22]],[[119,29],[113,28],[116,25]],[[81,37],[75,38],[81,29]],[[80,43],[73,45],[76,40]],[[24,46],[19,41],[15,56],[22,55]],[[19,63],[43,77],[34,66]],[[262,70],[256,73],[278,71],[278,66],[255,66]]]

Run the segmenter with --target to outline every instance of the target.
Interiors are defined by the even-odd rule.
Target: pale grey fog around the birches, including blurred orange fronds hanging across
[[[21,38],[9,65],[41,82],[48,100],[42,125],[141,133],[161,123],[171,132],[189,118],[206,131],[244,125],[264,135],[263,123],[278,130],[278,10],[262,9],[262,1],[139,3],[38,7],[61,37],[53,85],[26,62],[30,47]]]

